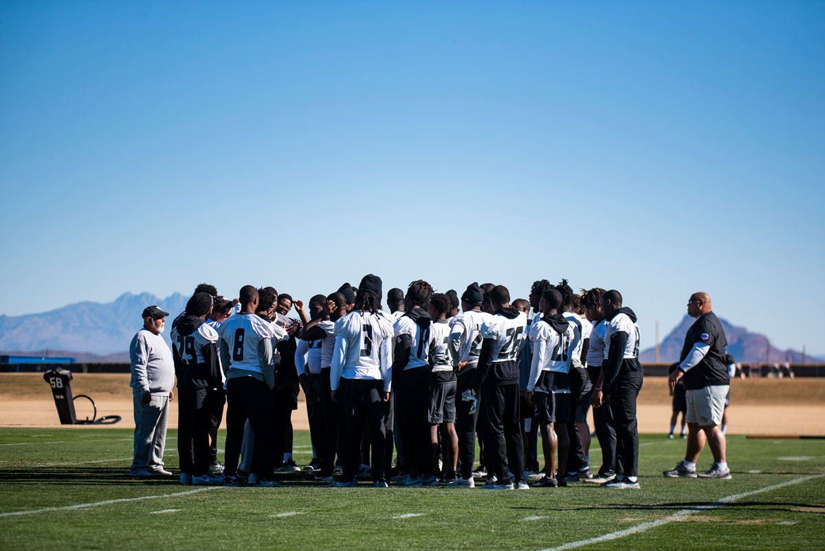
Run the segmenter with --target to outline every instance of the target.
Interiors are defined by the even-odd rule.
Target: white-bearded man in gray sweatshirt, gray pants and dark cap
[[[144,327],[129,346],[134,399],[133,477],[171,476],[163,469],[169,402],[174,398],[175,366],[172,351],[160,334],[168,312],[157,306],[144,308]]]

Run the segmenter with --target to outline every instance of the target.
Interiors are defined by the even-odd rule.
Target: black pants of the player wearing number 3
[[[345,481],[356,478],[361,464],[361,432],[370,430],[372,476],[384,478],[384,381],[341,379],[337,392],[341,408],[341,467]]]

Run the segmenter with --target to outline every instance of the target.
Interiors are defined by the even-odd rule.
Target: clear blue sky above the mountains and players
[[[704,290],[825,355],[823,2],[0,0],[0,313]]]

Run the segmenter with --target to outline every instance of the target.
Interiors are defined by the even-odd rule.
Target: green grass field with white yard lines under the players
[[[733,479],[697,480],[662,477],[683,440],[644,435],[640,490],[488,492],[332,489],[303,473],[280,488],[134,480],[131,434],[0,429],[0,549],[825,549],[825,440],[729,436]],[[309,434],[295,446],[306,464]]]

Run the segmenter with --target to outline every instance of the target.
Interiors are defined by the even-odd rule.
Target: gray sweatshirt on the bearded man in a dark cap
[[[175,384],[175,365],[172,351],[160,335],[143,328],[129,346],[132,380],[129,384],[135,395],[151,392],[168,396]]]

